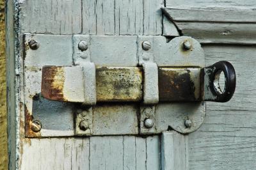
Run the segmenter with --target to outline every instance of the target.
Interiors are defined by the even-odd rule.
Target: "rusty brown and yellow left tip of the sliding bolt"
[[[67,101],[63,95],[64,81],[63,67],[44,66],[42,69],[42,96],[49,100]]]

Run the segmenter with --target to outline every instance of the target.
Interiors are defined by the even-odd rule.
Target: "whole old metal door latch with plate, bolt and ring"
[[[33,59],[41,58],[44,52],[40,48],[47,45],[44,43],[49,38],[54,41],[63,36],[25,35],[25,46],[35,39],[41,43],[38,49],[26,51],[24,63],[28,77],[31,67],[36,65]],[[204,101],[227,102],[236,88],[234,67],[228,61],[204,67],[200,43],[188,36],[173,38],[170,42],[163,36],[73,35],[65,38],[72,40],[71,64],[45,62],[38,66],[42,75],[38,81],[42,85],[30,95],[39,93],[42,101],[73,105],[74,130],[66,135],[158,134],[170,128],[186,134],[195,131],[204,121]],[[120,43],[124,45],[116,48]],[[106,44],[113,47],[107,48]],[[225,77],[222,88],[221,73]],[[31,122],[35,120],[33,102],[26,103],[30,108],[26,116],[26,136],[54,136],[50,130],[44,134],[42,130],[31,132]],[[126,121],[125,116],[128,116]]]

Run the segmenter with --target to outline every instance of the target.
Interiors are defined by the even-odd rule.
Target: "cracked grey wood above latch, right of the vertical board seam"
[[[83,33],[161,35],[163,0],[82,1]]]

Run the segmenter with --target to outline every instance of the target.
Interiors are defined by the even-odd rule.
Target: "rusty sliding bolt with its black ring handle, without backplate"
[[[159,102],[227,102],[236,88],[236,73],[228,61],[219,61],[205,68],[159,67],[155,70],[149,67],[147,74],[150,71],[157,75],[143,75],[143,72],[147,73],[145,67],[96,67],[97,102],[143,102],[143,77],[156,78],[152,82],[156,81],[158,84],[147,89],[157,94],[157,100],[154,100],[156,102],[158,97]],[[225,75],[224,89],[218,84],[221,72]],[[83,95],[83,76],[81,66],[44,66],[42,96],[49,100],[84,102],[86,94]],[[72,82],[76,85],[72,86]]]

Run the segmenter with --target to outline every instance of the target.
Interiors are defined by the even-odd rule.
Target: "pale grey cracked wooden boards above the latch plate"
[[[20,1],[22,32],[161,35],[163,0]]]

